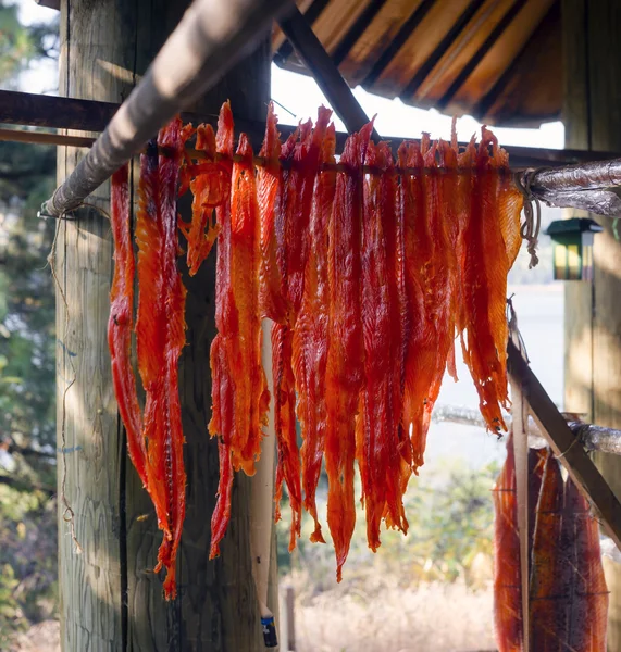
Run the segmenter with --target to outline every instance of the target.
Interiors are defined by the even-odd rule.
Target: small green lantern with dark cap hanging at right
[[[554,241],[556,280],[593,280],[593,236],[600,230],[588,217],[550,223],[546,233]]]

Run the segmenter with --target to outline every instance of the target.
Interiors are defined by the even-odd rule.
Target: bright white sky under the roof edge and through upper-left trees
[[[35,0],[17,0],[20,18],[25,24],[52,21],[58,12],[40,7]],[[35,64],[22,76],[22,89],[27,92],[50,92],[55,84],[53,62]],[[272,64],[272,99],[285,109],[277,108],[278,122],[297,124],[300,120],[316,117],[320,104],[330,106],[327,100],[311,77],[283,71]],[[376,115],[375,127],[384,136],[417,138],[421,131],[429,131],[432,138],[450,138],[451,117],[435,110],[407,106],[400,100],[387,100],[367,92],[363,88],[353,89],[353,95],[369,117]],[[290,112],[290,113],[288,113]],[[335,116],[337,129],[345,130],[343,123]],[[473,117],[464,116],[457,122],[460,140],[469,140],[479,133],[481,124]],[[494,127],[500,145],[521,145],[524,147],[547,147],[562,149],[564,128],[560,122],[547,123],[538,129],[514,129]]]

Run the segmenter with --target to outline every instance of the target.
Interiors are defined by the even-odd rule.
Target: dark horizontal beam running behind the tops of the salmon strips
[[[0,90],[0,123],[3,124],[102,131],[117,109],[119,105],[111,102]],[[218,125],[218,115],[184,112],[181,115],[186,123],[191,122],[195,125],[206,123],[211,124],[213,127]],[[247,134],[252,147],[257,151],[260,149],[265,133],[264,123],[236,117],[235,129],[237,133],[244,131]],[[290,125],[278,125],[283,138],[287,138],[294,129],[295,127]],[[336,146],[338,151],[343,151],[346,139],[347,134],[337,131]],[[384,139],[390,143],[394,152],[403,140],[399,136],[385,136]],[[413,139],[408,138],[408,140]],[[505,146],[505,149],[509,152],[513,168],[570,165],[619,156],[618,152],[587,150],[552,150],[516,146]]]

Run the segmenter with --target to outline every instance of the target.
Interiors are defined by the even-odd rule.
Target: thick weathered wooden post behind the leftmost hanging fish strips
[[[61,95],[121,102],[177,24],[188,0],[62,0]],[[201,102],[216,114],[231,99],[240,118],[263,118],[270,98],[264,45]],[[59,153],[59,181],[84,150]],[[133,186],[135,195],[135,185]],[[181,367],[187,516],[179,552],[179,597],[164,603],[151,568],[161,540],[154,512],[125,446],[107,347],[112,273],[109,189],[61,221],[57,239],[60,591],[63,650],[251,651],[262,648],[249,551],[249,480],[236,478],[222,556],[208,561],[218,486],[218,451],[207,434],[214,335],[214,256],[184,278],[187,341]],[[183,263],[182,263],[183,264]],[[73,510],[76,554],[70,535]],[[273,555],[275,559],[275,555]],[[275,568],[275,564],[274,564]],[[273,572],[272,572],[273,573]],[[273,595],[272,598],[275,598]],[[270,605],[275,610],[275,601]]]

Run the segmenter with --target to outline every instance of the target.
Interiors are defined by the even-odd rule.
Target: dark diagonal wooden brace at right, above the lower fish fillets
[[[593,505],[609,537],[621,550],[621,503],[584,450],[580,438],[569,429],[562,414],[511,341],[508,353],[509,375],[522,386],[539,430],[571,479]]]

